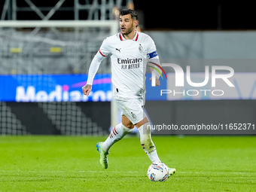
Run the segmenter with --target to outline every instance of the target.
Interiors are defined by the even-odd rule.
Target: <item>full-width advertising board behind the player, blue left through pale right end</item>
[[[175,87],[175,75],[160,78],[160,87],[152,87],[151,74],[146,74],[146,101],[152,100],[213,100],[256,99],[256,73],[236,73],[230,82],[234,87],[224,87],[225,82],[211,87]],[[193,73],[193,80],[203,82],[204,74]],[[199,80],[198,80],[199,79]],[[111,101],[111,75],[96,75],[93,90],[84,96],[82,87],[87,75],[0,75],[0,102],[105,102]]]

